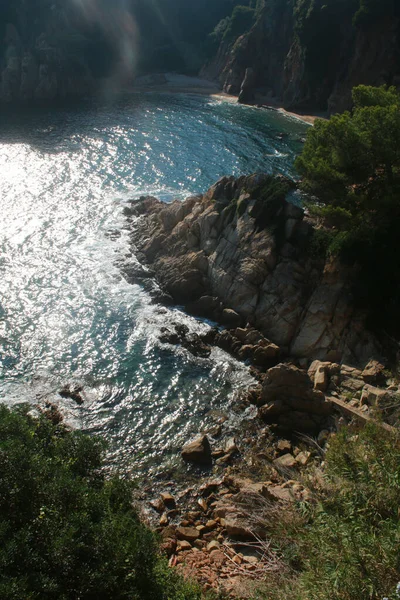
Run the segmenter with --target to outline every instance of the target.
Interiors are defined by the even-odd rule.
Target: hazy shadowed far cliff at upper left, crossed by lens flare
[[[0,103],[112,91],[139,73],[197,74],[231,0],[1,0]]]

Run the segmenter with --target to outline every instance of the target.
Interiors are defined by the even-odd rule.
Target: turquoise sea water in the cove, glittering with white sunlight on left
[[[203,192],[226,174],[290,174],[306,127],[167,94],[1,115],[1,400],[55,402],[68,423],[105,436],[119,466],[173,469],[250,377],[220,350],[197,359],[158,341],[168,322],[208,326],[122,278],[118,264],[134,259],[123,208],[143,193]],[[57,394],[68,382],[84,386],[82,406]],[[227,432],[236,426],[231,416]]]

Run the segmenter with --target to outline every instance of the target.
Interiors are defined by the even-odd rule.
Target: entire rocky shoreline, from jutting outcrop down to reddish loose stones
[[[161,484],[145,502],[170,564],[234,597],[281,567],[257,544],[268,538],[271,514],[284,518],[296,501],[312,502],[337,427],[398,416],[399,388],[352,306],[351,273],[310,255],[313,223],[287,200],[293,187],[279,176],[223,178],[185,202],[146,197],[126,209],[127,279],[217,324],[201,336],[177,324],[161,341],[200,357],[218,346],[255,377],[240,400],[257,411],[254,435],[221,446],[215,432],[201,432],[182,458],[211,469],[211,479],[203,471],[187,489]]]

